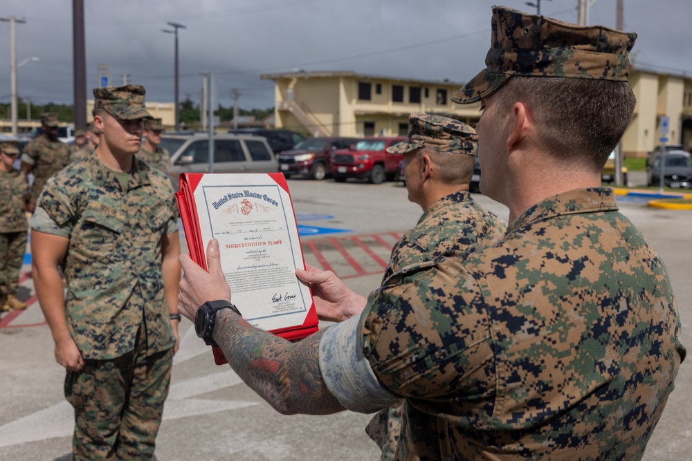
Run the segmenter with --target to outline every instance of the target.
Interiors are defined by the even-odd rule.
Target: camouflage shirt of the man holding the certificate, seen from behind
[[[400,460],[637,460],[685,349],[664,264],[610,188],[371,295],[363,352],[406,397]]]

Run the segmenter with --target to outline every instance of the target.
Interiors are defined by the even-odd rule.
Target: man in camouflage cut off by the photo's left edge
[[[24,309],[17,299],[19,270],[26,250],[26,188],[21,171],[12,167],[19,155],[17,141],[0,142],[0,311]]]

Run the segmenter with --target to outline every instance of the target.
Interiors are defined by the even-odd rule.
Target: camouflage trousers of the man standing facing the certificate
[[[113,360],[85,360],[67,372],[65,397],[75,408],[75,460],[149,460],[154,455],[173,350],[147,357],[145,328],[133,351]]]

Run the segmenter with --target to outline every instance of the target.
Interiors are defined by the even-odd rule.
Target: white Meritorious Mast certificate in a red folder
[[[310,290],[295,268],[304,260],[282,173],[182,173],[176,194],[193,261],[206,268],[206,244],[219,241],[233,303],[251,325],[286,339],[318,328]],[[223,363],[220,351],[215,359]]]

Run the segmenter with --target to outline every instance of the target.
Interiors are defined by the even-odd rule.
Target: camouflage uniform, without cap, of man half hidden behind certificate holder
[[[502,219],[478,205],[468,191],[443,197],[426,209],[418,224],[394,245],[382,285],[406,267],[434,261],[446,254],[466,252],[474,245],[490,245],[502,238],[506,228]],[[401,433],[401,408],[377,413],[367,433],[383,455],[387,458],[394,455]]]

